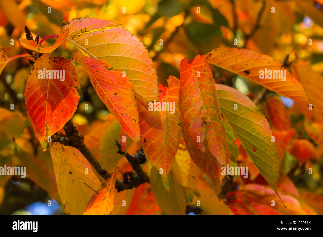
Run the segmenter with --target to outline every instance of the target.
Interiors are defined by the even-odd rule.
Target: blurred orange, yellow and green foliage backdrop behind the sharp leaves
[[[169,75],[179,78],[179,63],[185,55],[189,60],[197,54],[205,54],[221,46],[247,48],[267,54],[282,61],[287,68],[295,60],[302,59],[311,64],[314,71],[322,74],[322,4],[322,0],[5,0],[0,2],[0,46],[5,48],[9,57],[24,54],[26,52],[20,46],[18,39],[24,37],[25,25],[31,30],[34,38],[39,33],[41,39],[47,35],[57,35],[65,21],[79,17],[96,17],[119,22],[140,38],[155,63],[159,82],[166,86]],[[48,13],[48,7],[51,7],[51,13]],[[275,7],[275,13],[272,13],[272,7]],[[11,39],[14,40],[14,45],[10,44]],[[237,45],[234,44],[235,39],[237,39]],[[311,45],[309,40],[312,41]],[[51,44],[54,41],[55,39],[48,39],[43,44]],[[51,54],[51,57],[73,58],[75,50],[77,50],[75,45],[64,42]],[[75,67],[82,95],[73,122],[81,134],[87,135],[104,123],[109,112],[96,95],[86,71],[79,65]],[[268,91],[264,93],[263,87],[259,84],[223,69],[211,67],[216,83],[232,86],[252,99],[256,99],[257,95],[262,93],[260,100],[257,100],[257,105],[270,117],[270,108],[266,110],[266,98],[275,94]],[[16,124],[23,126],[20,130],[25,129],[24,141],[29,141],[28,149],[32,150],[26,153],[34,158],[37,157],[38,160],[46,161],[50,159],[50,155],[48,152],[40,155],[38,141],[30,129],[25,112],[24,88],[31,68],[26,58],[16,59],[5,67],[0,75],[0,104],[6,109],[10,108],[10,104],[15,104],[15,110],[20,112],[15,114],[18,116],[16,119],[21,119],[19,117],[22,116],[21,114],[25,116],[26,123],[16,122]],[[313,124],[306,126],[307,121],[294,102],[288,98],[280,96],[279,98],[281,101],[278,104],[283,104],[284,111],[287,111],[287,116],[292,123],[291,127],[296,130],[293,138],[308,141],[309,144],[303,145],[306,147],[306,154],[310,153],[309,158],[311,158],[301,162],[297,157],[300,153],[297,148],[300,145],[294,144],[295,148],[292,142],[290,145],[292,147],[287,149],[289,152],[284,153],[282,158],[282,172],[289,176],[297,187],[322,193],[323,130],[318,127],[313,128]],[[89,104],[89,110],[84,109],[85,104]],[[14,121],[12,117],[9,119]],[[1,130],[6,126],[3,123],[5,120],[5,117],[1,118]],[[269,119],[269,121],[272,123],[272,120]],[[311,136],[311,129],[314,133],[318,133],[318,140]],[[2,133],[0,135],[3,142],[0,163],[8,162],[8,157],[11,163],[19,163],[15,160],[19,157],[13,158],[13,153],[10,151],[13,146],[11,137]],[[19,140],[14,142],[19,143]],[[22,143],[20,141],[19,144],[23,147]],[[244,158],[240,160],[245,164],[248,162]],[[48,164],[48,166],[51,165]],[[253,166],[252,162],[249,166]],[[313,169],[311,176],[304,175],[308,167]],[[251,180],[257,179],[259,174],[257,171],[250,168],[249,172],[252,173]],[[49,200],[47,194],[50,192],[46,190],[46,193],[43,190],[47,184],[35,184],[28,179],[23,182],[13,178],[10,182],[7,181],[0,182],[0,203],[5,199],[0,207],[0,214],[10,214],[17,210],[20,210],[19,213],[36,214],[39,213],[37,211],[39,205],[44,206],[41,213],[62,213],[57,205],[52,205],[52,208],[47,210],[46,203]],[[20,191],[14,188],[17,185]],[[232,179],[227,179],[224,182],[222,198],[236,188],[236,183],[232,183]],[[53,197],[57,193],[50,194]],[[19,195],[25,197],[25,200],[22,201]],[[38,200],[45,204],[35,202]],[[39,205],[35,203],[29,205],[32,202]],[[23,207],[24,209],[21,209]]]

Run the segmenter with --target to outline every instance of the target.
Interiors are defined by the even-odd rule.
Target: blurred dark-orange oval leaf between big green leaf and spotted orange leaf
[[[292,127],[287,108],[278,96],[266,99],[265,111],[270,123],[278,130],[288,130]]]

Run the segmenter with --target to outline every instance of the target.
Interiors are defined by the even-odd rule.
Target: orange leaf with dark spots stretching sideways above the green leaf
[[[259,54],[248,49],[223,47],[212,50],[210,53],[205,54],[205,57],[212,65],[248,78],[253,82],[265,86],[267,89],[299,102],[302,105],[307,106],[308,104],[308,98],[302,84],[300,84],[288,70],[286,70],[285,74],[285,69],[282,68],[282,64],[270,56]],[[260,72],[261,70],[263,70],[263,72]],[[266,75],[265,70],[267,72]],[[280,74],[282,72],[284,78],[282,74]],[[275,75],[275,78],[260,78],[261,74],[264,74],[264,76],[271,75],[271,77]]]

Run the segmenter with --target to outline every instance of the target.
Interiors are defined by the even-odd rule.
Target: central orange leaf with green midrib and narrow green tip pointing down
[[[139,112],[142,115],[139,120],[142,147],[148,161],[158,170],[163,169],[162,177],[166,189],[169,187],[165,179],[171,171],[182,132],[181,114],[178,108],[180,81],[176,77],[170,76],[167,82],[168,88],[159,85],[159,101],[151,103],[151,110],[155,106],[156,110],[157,106],[160,107],[160,118],[155,121],[153,127],[143,120],[143,118],[151,118],[149,115],[144,115],[149,113],[148,110],[139,105]]]

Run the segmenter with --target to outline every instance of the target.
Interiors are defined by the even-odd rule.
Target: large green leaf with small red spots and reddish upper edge
[[[265,116],[247,96],[234,88],[216,84],[216,93],[226,121],[267,183],[277,192],[279,156]]]

